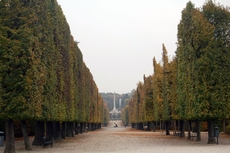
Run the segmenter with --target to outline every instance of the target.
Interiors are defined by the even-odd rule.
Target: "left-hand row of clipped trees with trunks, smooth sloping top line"
[[[60,129],[62,137],[73,135],[74,123],[95,129],[108,121],[108,108],[57,1],[1,0],[0,10],[4,152],[15,152],[14,120],[22,123],[26,149],[31,149],[27,120],[36,121],[33,145],[43,144],[45,132],[47,138],[59,139]]]

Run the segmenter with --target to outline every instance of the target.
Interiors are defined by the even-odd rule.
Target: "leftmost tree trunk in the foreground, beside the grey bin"
[[[6,120],[6,147],[4,153],[15,153],[14,142],[14,122],[12,119]]]

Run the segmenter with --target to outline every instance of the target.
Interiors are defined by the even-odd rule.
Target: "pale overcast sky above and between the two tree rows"
[[[177,25],[188,0],[57,0],[99,92],[136,89],[153,74],[164,43],[175,55]],[[201,7],[205,0],[193,0]],[[216,0],[230,6],[230,0]]]

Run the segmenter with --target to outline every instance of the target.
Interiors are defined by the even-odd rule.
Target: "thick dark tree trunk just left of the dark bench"
[[[44,137],[44,122],[36,121],[35,137],[32,145],[42,146]]]

